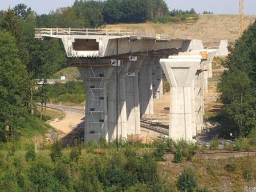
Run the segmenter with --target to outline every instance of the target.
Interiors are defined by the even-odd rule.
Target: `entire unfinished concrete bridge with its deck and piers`
[[[35,38],[62,39],[70,66],[79,69],[86,86],[85,141],[140,134],[141,116],[153,114],[153,99],[162,99],[163,76],[171,87],[169,138],[192,141],[203,129],[217,50],[204,49],[201,40],[88,28],[36,28]]]

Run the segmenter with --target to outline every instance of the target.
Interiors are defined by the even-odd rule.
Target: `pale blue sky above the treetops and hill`
[[[19,3],[31,7],[37,14],[48,14],[58,7],[72,6],[75,0],[7,0],[0,3],[0,10],[13,8]],[[238,14],[238,0],[165,0],[169,10],[190,10],[193,8],[197,13],[204,11],[213,14]],[[256,15],[256,0],[244,0],[243,12],[245,15]]]

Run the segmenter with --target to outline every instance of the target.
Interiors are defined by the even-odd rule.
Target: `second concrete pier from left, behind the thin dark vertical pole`
[[[131,62],[123,62],[119,74],[116,75],[116,70],[113,71],[111,79],[108,83],[108,129],[109,139],[116,138],[116,104],[118,106],[117,115],[117,134],[120,138],[127,138],[127,109],[125,96],[125,76],[131,65]],[[118,79],[118,93],[116,93],[116,77]],[[118,94],[118,102],[116,101]]]

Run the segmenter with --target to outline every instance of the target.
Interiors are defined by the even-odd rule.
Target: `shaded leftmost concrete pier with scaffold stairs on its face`
[[[86,85],[86,116],[84,140],[108,140],[108,115],[106,87],[114,67],[104,67],[104,60],[78,67]]]

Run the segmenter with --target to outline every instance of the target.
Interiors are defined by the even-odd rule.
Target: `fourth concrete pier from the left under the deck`
[[[153,88],[152,88],[152,66],[156,57],[148,60],[144,69],[140,70],[139,89],[140,89],[140,116],[143,114],[154,114],[153,110]]]

